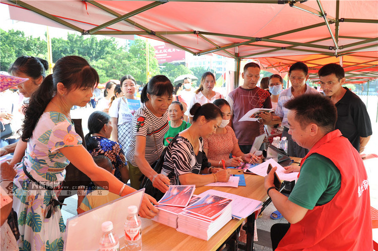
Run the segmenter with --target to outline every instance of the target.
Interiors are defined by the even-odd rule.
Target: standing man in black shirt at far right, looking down
[[[324,65],[318,72],[320,86],[337,109],[336,129],[360,153],[363,152],[372,134],[371,122],[362,100],[344,87],[345,72],[338,64]]]

